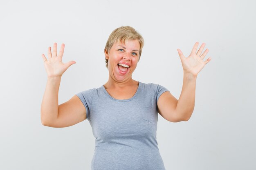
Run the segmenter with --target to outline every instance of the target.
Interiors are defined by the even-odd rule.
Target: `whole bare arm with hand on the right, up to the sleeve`
[[[204,68],[205,64],[211,60],[209,57],[206,61],[202,61],[209,50],[206,49],[204,53],[202,53],[205,46],[205,43],[203,43],[198,52],[196,52],[198,44],[198,42],[195,43],[189,57],[185,57],[182,51],[177,49],[184,71],[180,98],[177,100],[171,93],[165,92],[157,101],[159,114],[168,121],[187,121],[193,113],[195,107],[196,77],[202,68]]]

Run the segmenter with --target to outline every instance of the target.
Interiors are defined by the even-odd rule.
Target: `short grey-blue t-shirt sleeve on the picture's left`
[[[83,103],[83,105],[85,106],[86,109],[86,119],[90,119],[90,109],[91,109],[91,105],[92,105],[92,99],[93,99],[93,95],[94,95],[94,91],[96,89],[89,89],[86,91],[82,91],[77,93],[76,95],[79,97],[79,99],[81,100],[81,102]]]

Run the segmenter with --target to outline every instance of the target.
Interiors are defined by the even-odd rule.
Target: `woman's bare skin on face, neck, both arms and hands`
[[[185,57],[180,49],[177,49],[184,71],[182,92],[177,100],[169,91],[162,93],[157,101],[158,113],[164,119],[171,122],[187,121],[193,113],[195,106],[195,83],[198,73],[204,68],[211,58],[203,61],[208,49],[202,53],[205,43],[198,49],[199,42],[193,46],[189,57]],[[53,53],[48,48],[48,59],[42,54],[47,72],[47,85],[41,105],[41,121],[44,126],[62,128],[72,126],[86,119],[86,110],[83,103],[74,95],[67,102],[58,105],[58,90],[61,76],[75,61],[62,62],[65,44],[57,54],[57,43],[54,43]],[[132,79],[132,73],[139,60],[139,42],[128,40],[124,44],[116,42],[110,51],[105,51],[108,59],[109,79],[104,87],[116,99],[129,99],[138,88],[138,82]],[[135,50],[135,51],[134,51]],[[136,53],[136,54],[135,54]],[[130,64],[128,73],[122,75],[118,71],[117,64],[127,62]]]

